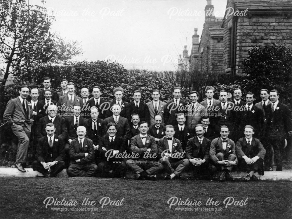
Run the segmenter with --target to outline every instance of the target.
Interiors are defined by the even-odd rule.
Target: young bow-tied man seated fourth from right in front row
[[[180,174],[189,166],[189,160],[185,158],[185,151],[178,139],[173,137],[175,131],[172,125],[165,126],[165,133],[162,139],[158,141],[158,157],[159,162],[163,164],[167,171],[165,180],[173,179],[175,176],[180,177]],[[175,169],[173,169],[175,168]]]

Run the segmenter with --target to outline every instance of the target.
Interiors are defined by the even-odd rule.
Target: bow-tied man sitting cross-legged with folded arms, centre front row
[[[157,145],[155,138],[148,135],[148,123],[139,123],[140,134],[131,139],[132,157],[126,161],[134,171],[135,179],[155,180],[163,165],[157,161]]]

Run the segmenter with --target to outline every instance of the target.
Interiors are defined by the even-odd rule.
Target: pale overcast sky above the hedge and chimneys
[[[213,0],[223,17],[227,0]],[[29,0],[42,5],[41,0]],[[176,70],[184,45],[201,32],[206,0],[47,0],[52,31],[81,43],[78,60],[117,60],[125,68]],[[187,38],[187,39],[186,39]]]

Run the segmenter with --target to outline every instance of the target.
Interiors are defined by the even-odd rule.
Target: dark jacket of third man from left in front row
[[[107,150],[102,150],[102,147],[104,147]],[[118,150],[119,154],[122,154],[124,153],[124,151],[126,151],[126,141],[122,137],[116,136],[116,138],[114,139],[114,144],[111,145],[109,141],[109,136],[108,135],[102,136],[98,141],[98,153],[100,154],[102,161],[107,161],[107,157],[110,154],[107,154],[107,156],[105,156],[105,153],[108,150]],[[124,159],[119,159],[115,157],[109,158],[109,161],[112,161],[112,160],[124,160]]]

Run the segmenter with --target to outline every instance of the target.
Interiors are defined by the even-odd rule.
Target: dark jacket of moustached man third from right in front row
[[[206,160],[205,163],[209,163],[209,150],[210,150],[211,141],[209,139],[204,138],[202,144],[200,144],[197,136],[190,138],[187,141],[186,147],[186,156],[187,159],[200,158],[202,160]],[[199,157],[200,147],[202,147],[203,155]]]

